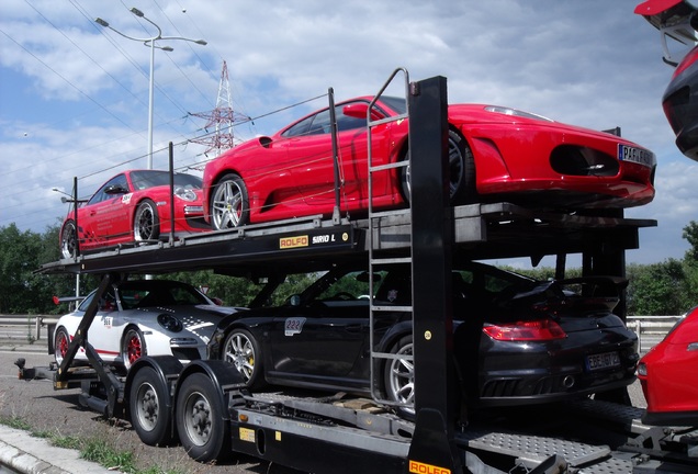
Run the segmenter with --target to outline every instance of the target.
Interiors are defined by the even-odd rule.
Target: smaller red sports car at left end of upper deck
[[[203,218],[201,179],[174,173],[174,232],[210,230]],[[170,174],[168,171],[124,171],[106,181],[78,207],[78,228],[74,212],[60,229],[64,258],[117,244],[157,240],[170,232]]]

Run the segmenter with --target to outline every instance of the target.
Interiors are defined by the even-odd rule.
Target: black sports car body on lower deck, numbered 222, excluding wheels
[[[404,287],[409,284],[409,268],[391,268],[376,284],[375,300],[387,306],[410,304],[409,290]],[[634,381],[638,339],[611,313],[617,295],[582,296],[560,282],[537,282],[481,263],[458,263],[454,269],[468,280],[460,289],[454,284],[454,356],[460,385],[472,406],[544,403]],[[259,346],[261,354],[256,357],[266,383],[370,394],[370,302],[364,294],[327,297],[342,275],[356,278],[360,271],[335,268],[290,297],[293,304],[226,317],[212,338],[210,357],[225,358],[227,336],[244,328]],[[619,286],[610,282],[606,292]],[[390,352],[412,332],[409,313],[389,315],[382,315],[383,327],[375,332],[378,352]],[[495,340],[483,330],[540,320],[545,321],[542,331],[552,331],[555,338]],[[376,379],[382,386],[383,376]]]

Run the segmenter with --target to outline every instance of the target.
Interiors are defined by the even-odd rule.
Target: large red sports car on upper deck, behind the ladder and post
[[[372,99],[335,106],[342,213],[368,210]],[[405,111],[404,99],[385,97],[371,117]],[[492,105],[450,105],[448,115],[454,204],[508,200],[554,208],[629,207],[654,198],[654,154],[618,136]],[[336,202],[330,129],[326,108],[210,161],[203,178],[205,218],[223,229],[330,214]],[[406,159],[408,121],[380,123],[371,133],[373,167]],[[408,176],[408,167],[374,173],[374,208],[403,205],[409,199]]]

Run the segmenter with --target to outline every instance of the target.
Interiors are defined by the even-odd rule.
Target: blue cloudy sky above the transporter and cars
[[[91,194],[121,169],[145,168],[150,49],[156,50],[154,166],[209,159],[205,119],[223,61],[236,138],[275,132],[336,99],[373,93],[398,67],[448,78],[449,101],[515,106],[605,129],[652,149],[656,198],[628,217],[656,219],[628,261],[682,258],[698,219],[698,163],[685,158],[661,108],[672,69],[639,0],[3,0],[0,4],[0,227],[42,233],[67,212],[58,188]]]

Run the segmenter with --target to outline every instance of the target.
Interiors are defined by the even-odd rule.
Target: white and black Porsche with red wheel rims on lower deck
[[[58,319],[54,352],[59,364],[94,295],[95,291]],[[104,362],[126,370],[143,356],[174,356],[187,363],[206,358],[218,321],[238,309],[216,305],[187,283],[126,280],[106,290],[88,338]],[[75,360],[87,360],[83,349]]]

